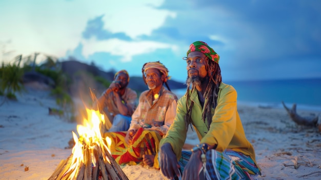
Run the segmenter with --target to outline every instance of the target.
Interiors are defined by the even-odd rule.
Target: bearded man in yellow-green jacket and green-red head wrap
[[[159,163],[169,179],[254,179],[260,174],[254,148],[237,112],[235,89],[222,82],[218,54],[194,42],[183,58],[187,91],[177,102],[173,124],[159,144]],[[200,144],[183,151],[189,126]]]

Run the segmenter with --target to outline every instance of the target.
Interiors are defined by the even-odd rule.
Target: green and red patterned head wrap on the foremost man
[[[190,52],[193,52],[193,51],[202,52],[208,58],[210,58],[212,61],[218,64],[219,55],[203,41],[196,41],[192,43],[186,54],[188,55]]]

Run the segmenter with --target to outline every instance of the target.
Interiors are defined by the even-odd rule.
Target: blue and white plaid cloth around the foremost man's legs
[[[182,151],[178,161],[182,172],[191,154],[191,151]],[[206,153],[206,160],[206,179],[255,179],[260,174],[250,156],[230,149],[224,152],[212,149]],[[199,173],[204,173],[203,167]]]

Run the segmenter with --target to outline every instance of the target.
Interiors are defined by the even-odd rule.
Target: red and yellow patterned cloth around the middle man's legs
[[[144,154],[157,156],[159,141],[162,136],[156,131],[144,130],[144,128],[138,129],[132,139],[132,145],[126,144],[126,133],[127,131],[104,133],[104,137],[111,138],[111,144],[108,145],[108,148],[119,165],[141,164]],[[159,167],[158,161],[154,161],[154,167]]]

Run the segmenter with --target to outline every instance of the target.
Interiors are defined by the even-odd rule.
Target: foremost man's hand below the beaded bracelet
[[[200,159],[202,152],[195,151],[192,153],[187,165],[184,168],[182,180],[198,180],[198,172],[202,168],[202,160]]]

